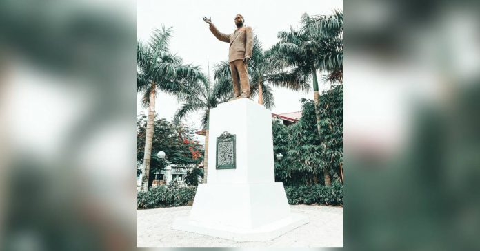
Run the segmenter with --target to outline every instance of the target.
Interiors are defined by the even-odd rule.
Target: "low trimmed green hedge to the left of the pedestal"
[[[137,193],[137,208],[187,206],[187,202],[194,199],[196,192],[195,186],[178,186],[177,184],[157,186],[148,192]]]

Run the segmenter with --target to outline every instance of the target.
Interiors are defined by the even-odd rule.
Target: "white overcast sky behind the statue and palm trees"
[[[154,28],[164,24],[172,27],[174,34],[170,49],[183,58],[184,63],[200,65],[204,72],[213,77],[213,65],[228,59],[228,43],[217,40],[208,30],[203,16],[211,17],[212,22],[223,33],[235,29],[234,17],[242,14],[245,25],[254,29],[263,44],[263,50],[277,43],[277,33],[290,30],[290,25],[298,26],[303,13],[331,14],[332,10],[343,10],[341,0],[139,0],[137,1],[137,38],[147,41]],[[322,89],[323,83],[319,83]],[[301,109],[301,98],[313,98],[313,91],[295,92],[274,88],[275,107],[273,113],[288,113]],[[138,99],[138,98],[137,98]],[[254,99],[257,101],[257,98]],[[137,102],[137,113],[147,113]],[[157,95],[156,111],[160,118],[172,120],[180,104],[172,96]],[[184,122],[200,129],[200,114],[192,114]]]

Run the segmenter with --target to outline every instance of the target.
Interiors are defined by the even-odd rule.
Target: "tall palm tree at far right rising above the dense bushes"
[[[328,73],[325,81],[343,82],[343,12],[335,10],[330,16],[314,17],[303,14],[300,29],[290,27],[290,32],[279,32],[278,38],[277,56],[299,72],[312,76],[317,131],[322,138],[317,71]],[[325,166],[323,177],[326,186],[330,186],[330,171]]]

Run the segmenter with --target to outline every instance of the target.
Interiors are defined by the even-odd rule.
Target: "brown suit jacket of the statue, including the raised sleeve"
[[[228,62],[243,60],[246,56],[252,57],[253,52],[253,35],[252,28],[242,27],[235,30],[232,34],[223,34],[217,30],[213,23],[210,25],[210,31],[214,36],[226,43],[230,43],[228,51]]]

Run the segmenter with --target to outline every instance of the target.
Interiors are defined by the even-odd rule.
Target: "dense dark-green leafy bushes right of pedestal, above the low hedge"
[[[320,129],[313,100],[302,99],[302,117],[286,127],[272,122],[275,178],[284,184],[317,184],[323,179],[323,170],[333,179],[340,179],[343,163],[343,85],[336,85],[319,96]]]

